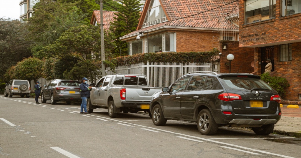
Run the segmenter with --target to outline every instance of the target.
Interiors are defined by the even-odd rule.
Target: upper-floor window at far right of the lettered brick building
[[[281,16],[301,13],[301,0],[282,0]]]

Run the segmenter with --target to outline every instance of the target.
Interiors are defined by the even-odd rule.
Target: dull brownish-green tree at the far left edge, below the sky
[[[28,49],[32,41],[25,39],[27,35],[28,31],[19,20],[0,18],[0,79],[4,79],[11,66],[32,55]]]

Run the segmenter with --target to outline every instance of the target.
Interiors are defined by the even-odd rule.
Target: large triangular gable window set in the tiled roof
[[[146,13],[142,28],[167,21],[159,0],[152,0]]]

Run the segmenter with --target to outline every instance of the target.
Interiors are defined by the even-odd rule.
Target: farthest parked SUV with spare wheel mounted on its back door
[[[5,84],[6,87],[4,89],[4,96],[5,97],[13,97],[13,95],[20,95],[21,98],[30,97],[30,85],[28,80],[20,80],[20,79],[13,79]]]

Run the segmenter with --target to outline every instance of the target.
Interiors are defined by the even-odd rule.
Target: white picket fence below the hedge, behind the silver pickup
[[[109,68],[106,69],[107,75],[115,75],[118,73],[145,75],[151,87],[169,86],[181,76],[193,71],[217,72],[217,63],[147,62],[118,66],[115,69],[115,73],[109,70]]]

